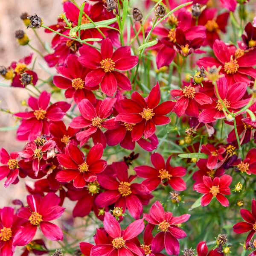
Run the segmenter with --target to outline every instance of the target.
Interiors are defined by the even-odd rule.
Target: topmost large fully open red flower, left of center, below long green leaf
[[[88,46],[81,47],[79,52],[80,63],[93,70],[85,78],[87,87],[101,84],[102,92],[108,96],[113,96],[117,87],[131,90],[130,80],[119,72],[131,70],[138,63],[138,57],[131,55],[130,47],[119,47],[113,52],[111,40],[106,38],[102,41],[101,52]]]

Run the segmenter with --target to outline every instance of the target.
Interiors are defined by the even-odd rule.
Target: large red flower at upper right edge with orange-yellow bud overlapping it
[[[233,45],[227,45],[223,41],[215,40],[213,44],[213,52],[216,58],[203,57],[198,60],[199,67],[220,67],[220,72],[225,74],[229,86],[236,82],[247,82],[256,78],[256,70],[253,68],[256,65],[256,49],[250,52],[245,52],[242,49],[236,49]]]

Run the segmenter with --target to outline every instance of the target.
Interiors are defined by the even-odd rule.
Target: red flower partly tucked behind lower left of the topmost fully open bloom
[[[74,98],[76,103],[79,103],[82,99],[88,99],[90,102],[96,103],[96,98],[91,90],[98,89],[98,87],[85,87],[85,76],[89,70],[83,67],[77,58],[76,55],[70,54],[67,57],[67,67],[56,67],[56,70],[62,76],[54,76],[53,83],[61,89],[66,89],[65,97]]]

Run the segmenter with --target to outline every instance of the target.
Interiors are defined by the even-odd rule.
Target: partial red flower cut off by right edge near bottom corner
[[[251,212],[247,209],[241,209],[240,214],[245,222],[239,222],[233,226],[233,231],[237,234],[246,233],[250,231],[246,238],[246,246],[254,236],[256,232],[256,201],[253,198]]]

